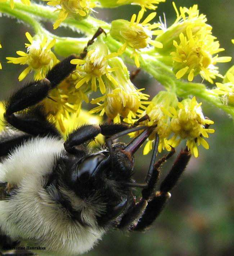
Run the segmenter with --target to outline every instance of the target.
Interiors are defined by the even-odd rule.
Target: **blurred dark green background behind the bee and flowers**
[[[175,3],[177,8],[198,4],[200,12],[207,15],[208,23],[213,26],[213,35],[219,40],[220,47],[225,48],[220,56],[234,57],[234,45],[231,43],[231,39],[234,39],[234,1],[175,0]],[[121,6],[113,10],[98,10],[99,14],[95,15],[106,21],[117,18],[130,20],[132,13],[138,10],[137,6],[129,5],[127,8]],[[176,17],[172,1],[159,4],[157,17],[163,17],[163,13],[169,26]],[[45,23],[45,26],[51,28],[50,23]],[[0,49],[3,66],[0,71],[0,99],[5,99],[14,88],[23,84],[18,82],[18,75],[25,67],[6,64],[5,57],[16,57],[15,51],[25,50],[26,31],[33,34],[32,29],[20,21],[6,16],[0,18],[0,41],[3,47]],[[72,31],[64,34],[63,29],[58,29],[58,33],[63,36],[72,35]],[[233,64],[234,61],[219,65],[220,73],[224,74]],[[26,80],[30,79],[26,77]],[[147,93],[152,95],[161,88],[143,71],[135,83],[138,87],[147,87]],[[154,225],[145,233],[111,231],[86,256],[234,255],[233,121],[223,111],[206,102],[203,102],[202,107],[204,114],[215,121],[212,128],[216,132],[207,139],[210,150],[200,146],[198,159],[192,157],[181,181],[172,190],[172,197],[166,208]],[[177,151],[179,150],[178,147]],[[145,163],[150,161],[150,156],[144,156],[144,161],[139,156],[136,157],[135,178],[141,182],[147,172]],[[163,166],[162,176],[166,175],[174,160],[175,158],[171,159]],[[140,191],[136,191],[136,194],[140,196]]]

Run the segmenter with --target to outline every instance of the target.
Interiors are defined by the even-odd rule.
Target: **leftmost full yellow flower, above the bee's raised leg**
[[[48,70],[58,63],[56,56],[51,52],[55,39],[48,42],[48,38],[41,35],[35,35],[33,38],[28,32],[25,35],[30,42],[30,44],[25,44],[27,53],[17,51],[16,53],[21,57],[7,57],[6,59],[9,60],[8,63],[28,65],[19,75],[19,81],[24,79],[30,70],[35,71],[35,80],[40,80],[45,77]]]

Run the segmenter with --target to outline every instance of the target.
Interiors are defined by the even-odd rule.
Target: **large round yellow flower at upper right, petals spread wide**
[[[216,76],[223,78],[215,66],[217,62],[228,62],[231,57],[218,57],[216,53],[224,51],[219,48],[219,42],[214,41],[213,36],[206,34],[193,35],[192,29],[186,30],[186,36],[181,32],[180,43],[173,42],[176,47],[175,52],[171,52],[174,60],[174,71],[176,78],[187,77],[188,81],[193,81],[195,75],[200,74],[202,78],[213,83]],[[213,56],[216,54],[215,56]]]

